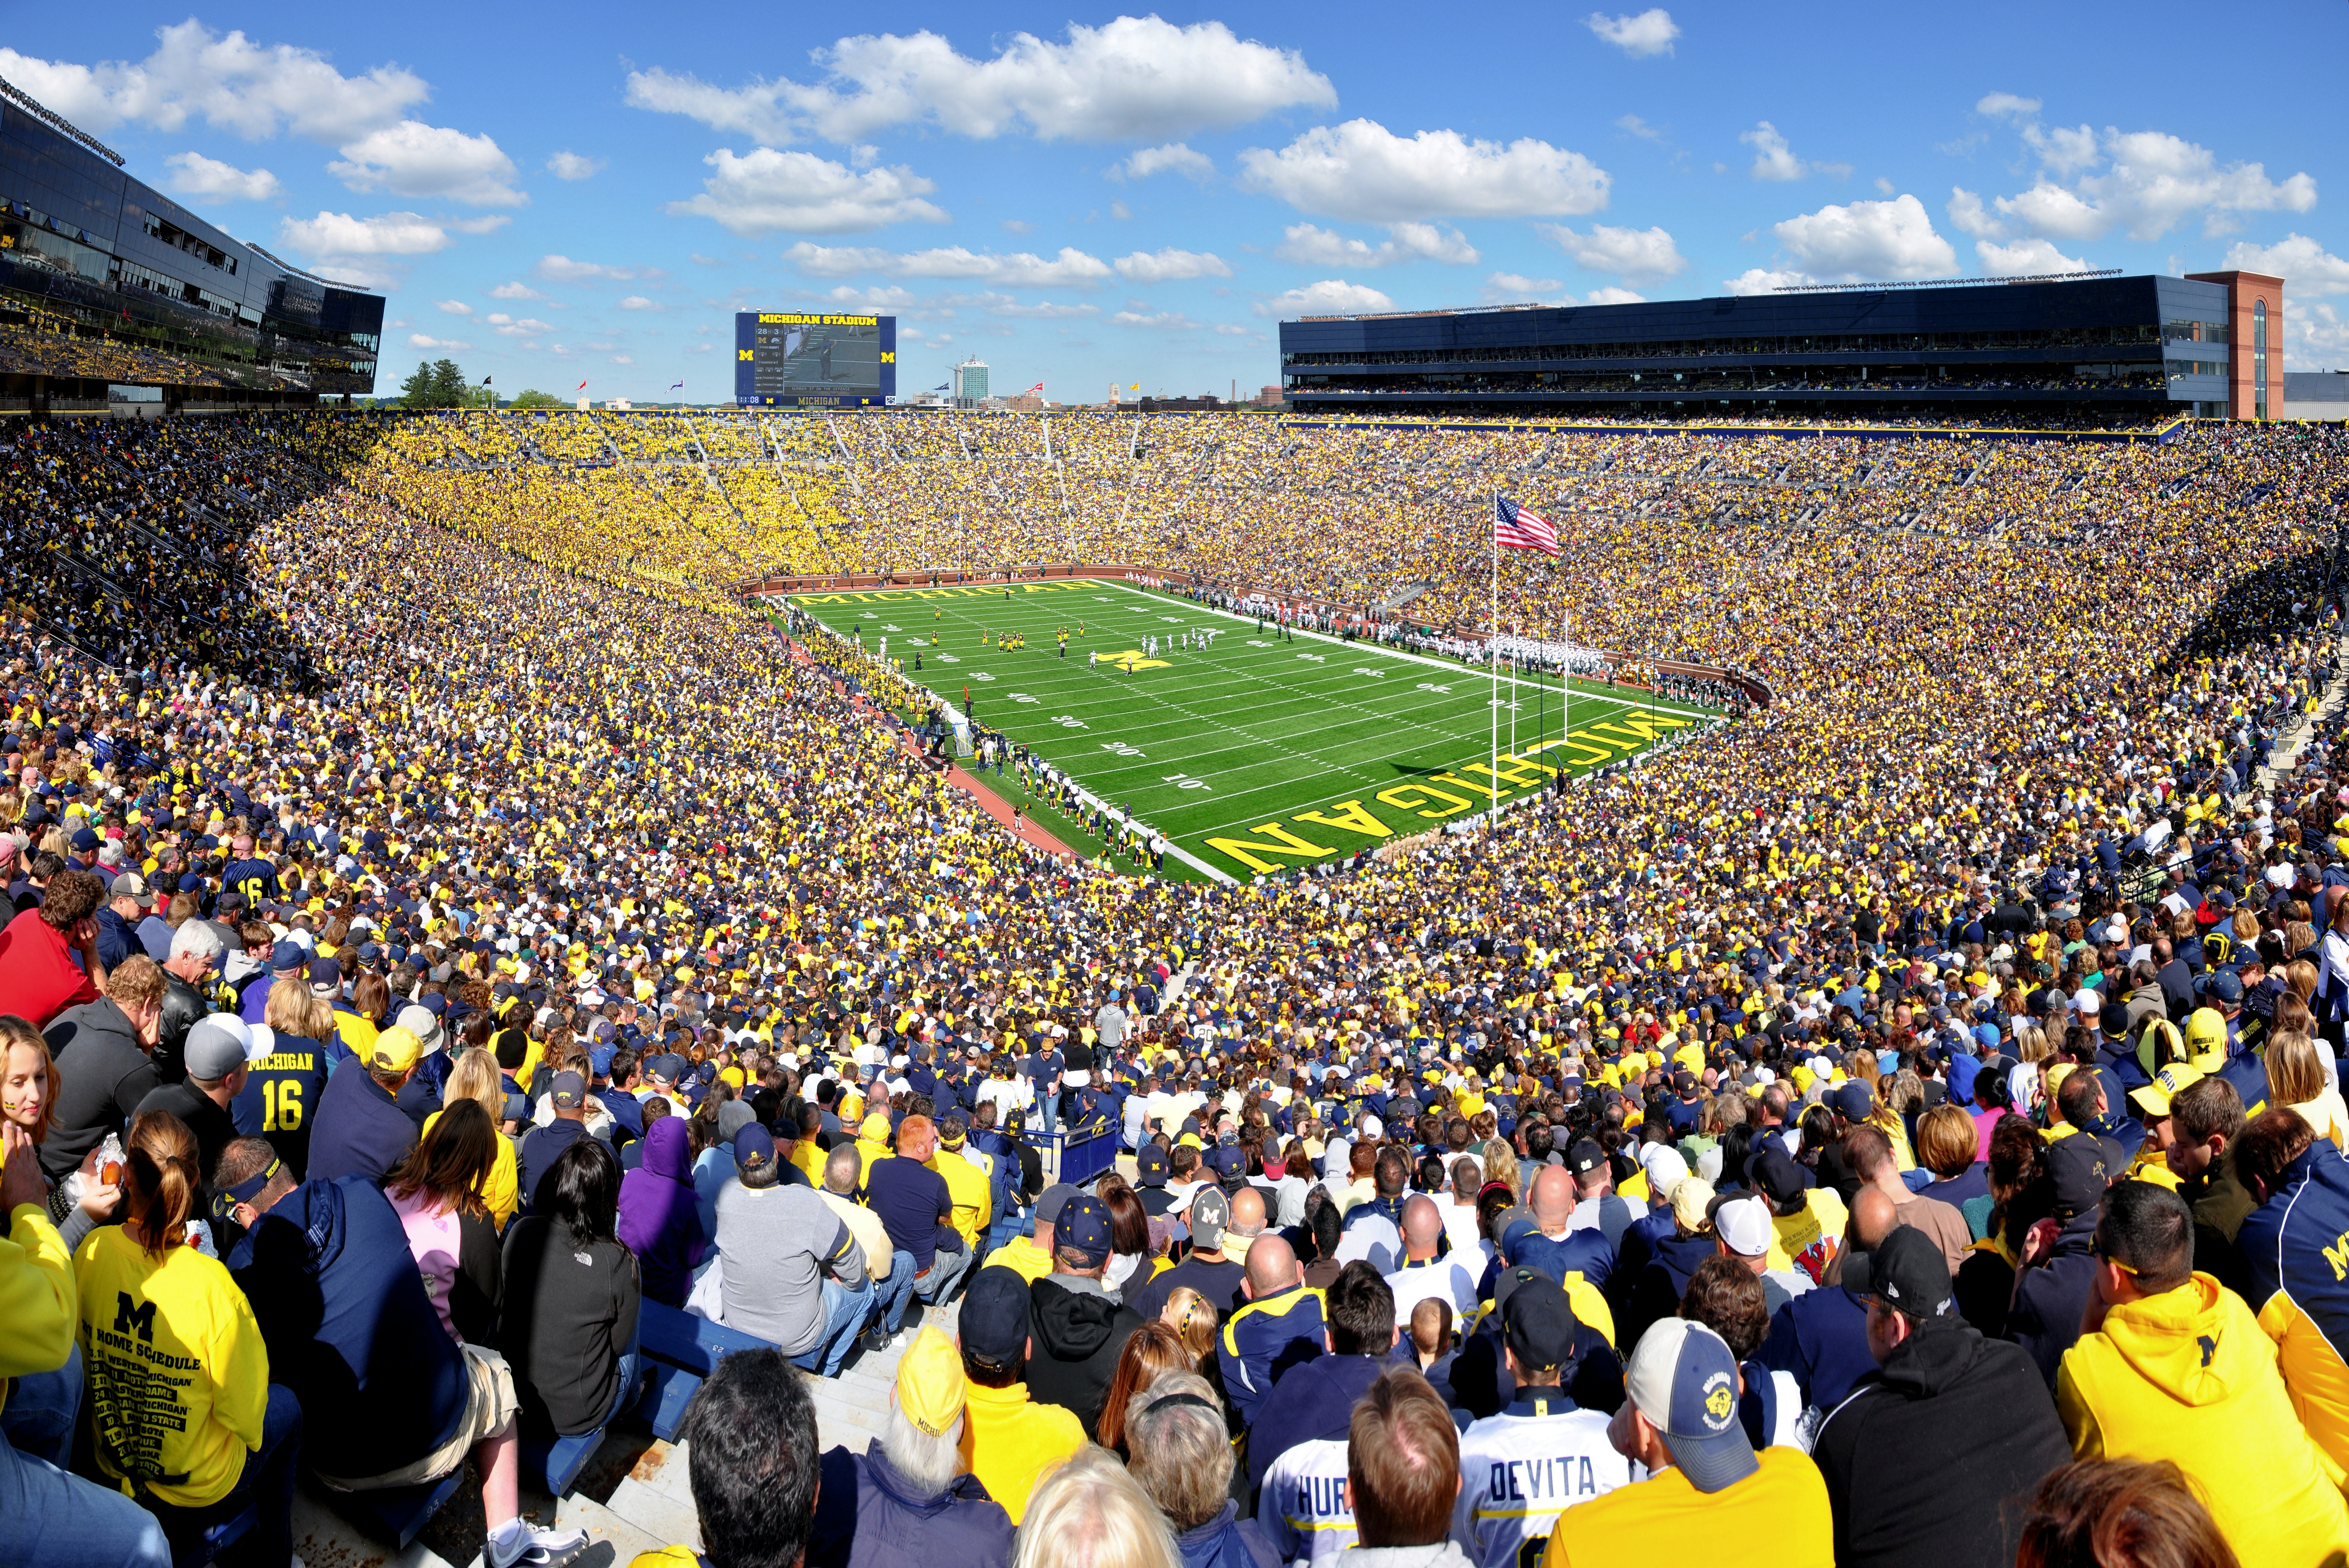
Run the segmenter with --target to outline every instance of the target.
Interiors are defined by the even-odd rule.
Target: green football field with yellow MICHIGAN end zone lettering
[[[977,723],[1167,836],[1167,876],[1250,878],[1529,800],[1719,714],[1555,678],[1278,629],[1123,582],[796,594]],[[1055,631],[1069,631],[1059,657]],[[1184,634],[1191,646],[1184,646]],[[1198,636],[1212,631],[1212,641]],[[998,648],[1024,634],[1027,648]],[[1151,648],[1149,638],[1158,638]],[[916,660],[921,667],[916,669]],[[1492,725],[1499,714],[1499,751]],[[1513,739],[1515,730],[1515,739]],[[1017,770],[982,782],[1071,847],[1097,840],[1036,810]]]

